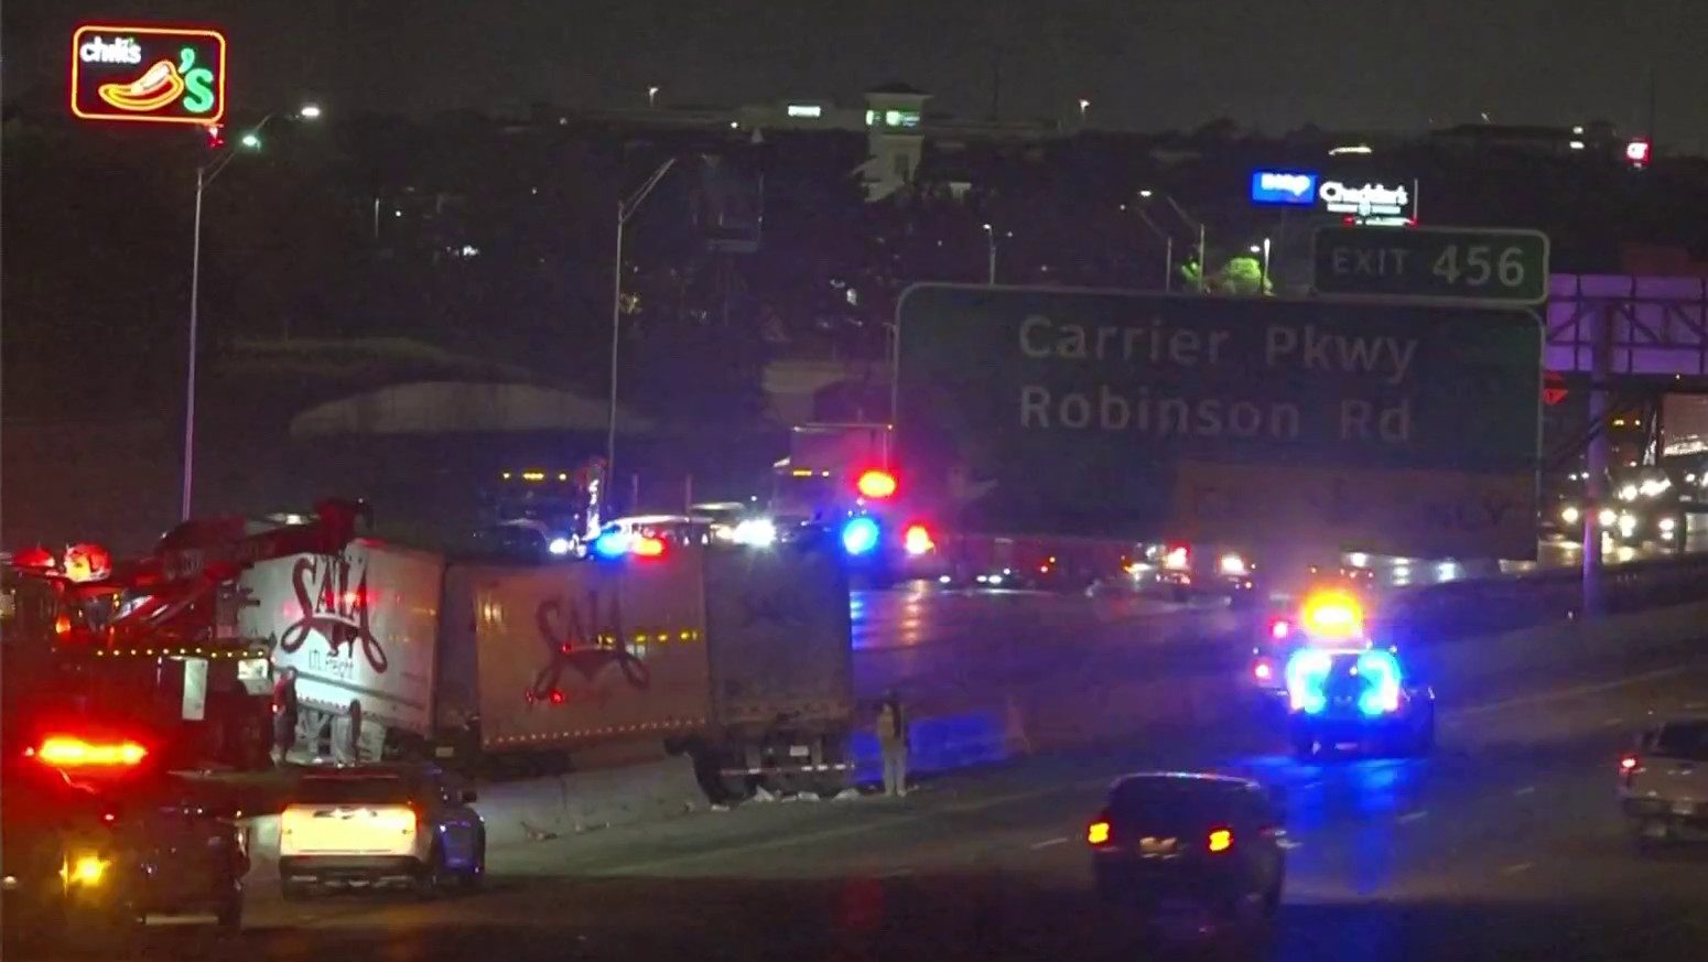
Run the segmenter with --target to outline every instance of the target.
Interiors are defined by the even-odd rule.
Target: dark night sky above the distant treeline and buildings
[[[1056,7],[1056,12],[1045,12]],[[477,15],[477,10],[482,14]],[[220,24],[232,94],[270,109],[851,103],[907,80],[936,109],[1281,132],[1430,121],[1647,126],[1708,152],[1701,0],[9,0],[5,91],[63,84],[72,27],[96,17]]]

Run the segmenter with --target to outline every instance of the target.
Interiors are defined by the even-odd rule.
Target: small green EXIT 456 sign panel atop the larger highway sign
[[[1319,227],[1317,294],[1442,297],[1491,304],[1547,299],[1547,234],[1479,227]]]

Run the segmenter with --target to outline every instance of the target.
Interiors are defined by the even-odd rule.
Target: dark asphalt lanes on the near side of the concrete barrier
[[[1286,904],[1266,959],[1679,959],[1708,947],[1708,848],[1645,858],[1614,760],[1648,713],[1708,711],[1708,665],[1443,711],[1430,759],[1303,765],[1245,721],[946,776],[907,800],[746,805],[492,853],[487,892],[251,890],[234,940],[152,959],[1131,959],[1090,899],[1086,817],[1126,771],[1281,786]]]

